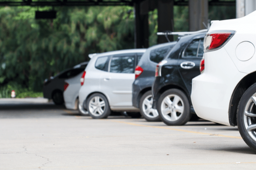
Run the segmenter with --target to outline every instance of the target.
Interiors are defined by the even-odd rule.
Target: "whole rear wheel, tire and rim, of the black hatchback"
[[[169,126],[184,125],[192,116],[189,100],[179,89],[169,89],[161,94],[157,110],[161,120]]]

